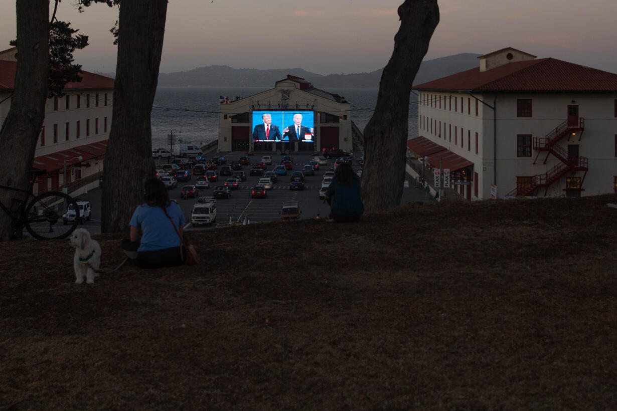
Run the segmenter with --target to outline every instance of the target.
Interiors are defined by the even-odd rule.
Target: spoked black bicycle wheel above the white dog
[[[28,204],[23,215],[23,225],[32,237],[38,240],[51,238],[67,238],[79,222],[78,218],[68,221],[65,225],[64,216],[71,206],[75,213],[79,213],[77,201],[68,194],[51,191],[37,195]],[[77,214],[79,215],[79,214]]]

